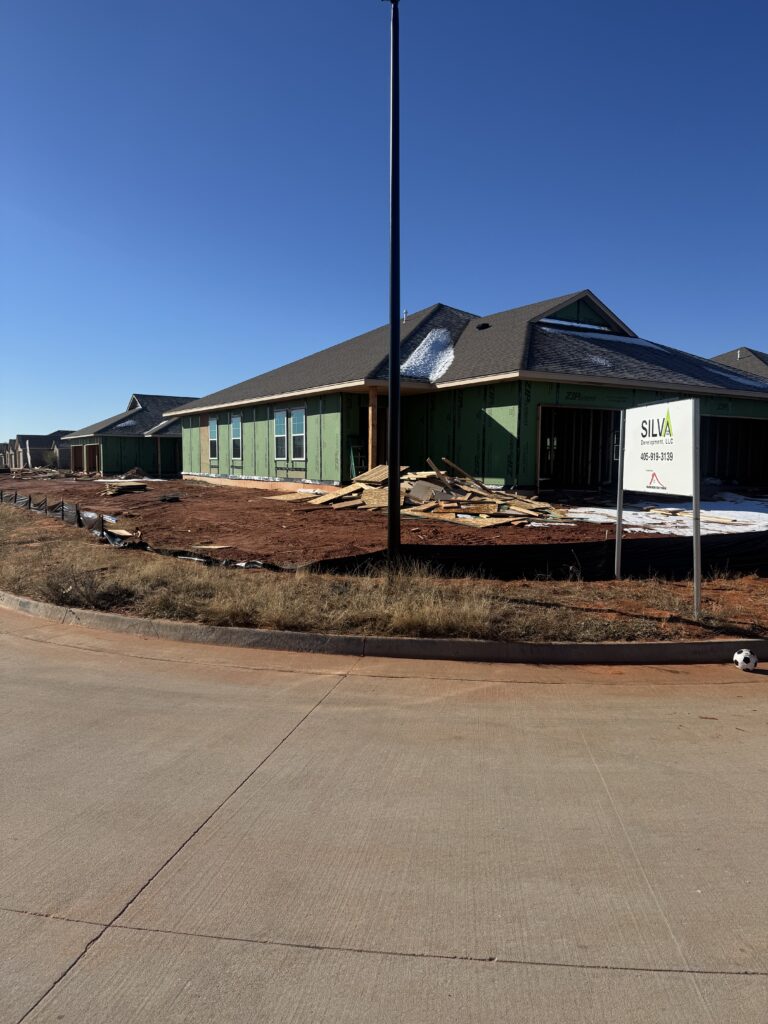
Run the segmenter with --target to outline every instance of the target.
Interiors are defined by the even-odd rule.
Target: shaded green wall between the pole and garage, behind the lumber
[[[517,384],[412,395],[402,400],[402,460],[426,469],[446,457],[486,483],[514,480],[517,458]]]

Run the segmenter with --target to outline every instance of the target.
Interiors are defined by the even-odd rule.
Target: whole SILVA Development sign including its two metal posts
[[[701,481],[698,398],[640,406],[622,416],[616,500],[616,579],[621,579],[624,490],[692,500],[693,613],[701,614]]]

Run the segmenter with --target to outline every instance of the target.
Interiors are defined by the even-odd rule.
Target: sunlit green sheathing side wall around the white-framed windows
[[[356,397],[356,396],[355,396]],[[299,406],[294,401],[274,406],[253,406],[242,410],[241,461],[231,459],[230,412],[220,412],[218,422],[218,459],[210,463],[213,476],[256,477],[275,480],[316,480],[333,482],[342,479],[341,473],[341,395],[311,397],[306,400],[305,460],[274,458],[274,410]],[[187,426],[188,422],[188,426]],[[206,415],[204,424],[208,424]],[[200,420],[185,420],[183,429],[184,472],[201,470]],[[187,436],[188,435],[188,436]],[[289,441],[289,455],[291,445]]]

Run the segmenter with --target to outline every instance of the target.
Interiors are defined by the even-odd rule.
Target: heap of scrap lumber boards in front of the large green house
[[[525,526],[542,519],[559,518],[557,510],[548,502],[488,487],[450,459],[442,461],[445,471],[431,460],[427,460],[429,470],[423,472],[410,472],[408,466],[400,467],[402,516],[477,528]],[[376,466],[333,494],[309,498],[308,504],[337,510],[385,511],[387,482],[387,467]],[[299,493],[292,498],[298,501]]]

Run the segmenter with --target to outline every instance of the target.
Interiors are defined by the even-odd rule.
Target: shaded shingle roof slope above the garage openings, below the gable
[[[643,338],[552,326],[532,328],[526,371],[560,377],[641,381],[657,387],[748,391],[768,396],[768,381]]]

